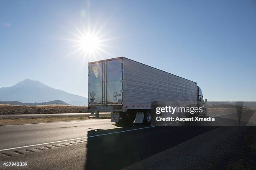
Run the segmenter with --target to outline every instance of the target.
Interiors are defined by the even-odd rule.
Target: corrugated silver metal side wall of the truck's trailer
[[[197,84],[124,58],[124,106],[149,107],[151,100],[197,100]]]

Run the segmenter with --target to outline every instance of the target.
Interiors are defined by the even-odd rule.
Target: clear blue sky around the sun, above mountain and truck
[[[110,39],[96,60],[124,56],[193,80],[207,100],[256,100],[253,0],[1,0],[0,87],[30,78],[87,97],[95,57],[69,55],[72,23],[97,23]]]

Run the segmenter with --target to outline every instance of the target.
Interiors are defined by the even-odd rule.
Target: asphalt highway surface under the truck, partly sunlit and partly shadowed
[[[253,113],[242,113],[240,125]],[[0,163],[26,162],[24,169],[120,169],[217,128],[170,125],[118,127],[99,119],[0,126]]]

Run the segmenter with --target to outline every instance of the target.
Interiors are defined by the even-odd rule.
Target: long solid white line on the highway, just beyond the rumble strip
[[[174,123],[178,123],[178,122],[174,122]],[[167,123],[167,124],[164,124],[164,125],[169,125],[169,124],[174,124],[174,123]],[[49,143],[40,143],[40,144],[36,144],[36,145],[27,145],[27,146],[21,146],[21,147],[16,147],[16,148],[8,148],[8,149],[2,149],[2,150],[0,150],[0,151],[4,151],[4,150],[13,150],[13,149],[20,149],[20,148],[28,148],[28,147],[39,146],[39,145],[48,145],[48,144],[52,144],[52,143],[67,142],[67,141],[71,141],[71,140],[87,139],[87,138],[93,138],[93,137],[97,137],[97,136],[111,135],[111,134],[115,134],[115,133],[130,132],[130,131],[133,131],[133,130],[140,130],[140,129],[146,129],[146,128],[154,128],[154,127],[157,127],[157,126],[162,126],[162,125],[148,126],[148,127],[144,127],[144,128],[131,129],[131,130],[124,130],[124,131],[113,132],[113,133],[105,133],[105,134],[101,134],[101,135],[87,136],[87,137],[83,137],[83,138],[75,138],[75,139],[68,139],[68,140],[59,140],[59,141],[49,142]]]

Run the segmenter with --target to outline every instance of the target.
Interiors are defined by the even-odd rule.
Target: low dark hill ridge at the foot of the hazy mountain
[[[26,105],[26,106],[37,106],[37,105],[70,105],[62,100],[53,100],[49,102],[34,102],[34,103],[23,103],[19,101],[0,101],[0,104],[4,105]]]

